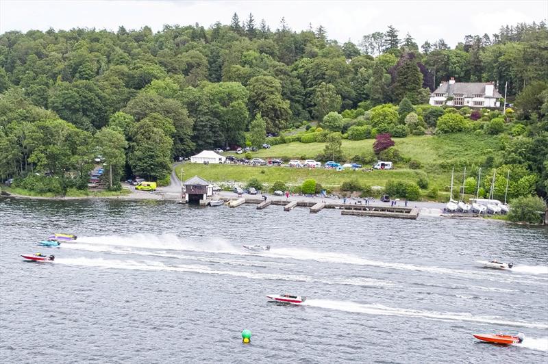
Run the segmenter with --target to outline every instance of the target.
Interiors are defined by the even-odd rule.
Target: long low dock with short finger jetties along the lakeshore
[[[419,216],[419,209],[415,207],[390,207],[384,205],[364,205],[364,204],[349,204],[349,203],[334,203],[322,201],[299,201],[257,197],[248,198],[222,198],[229,202],[229,207],[238,207],[245,203],[257,204],[257,209],[266,209],[270,205],[283,206],[284,211],[291,211],[295,207],[308,207],[310,213],[318,213],[322,209],[340,209],[341,215],[353,216],[371,216],[379,218],[403,218],[416,219]]]

